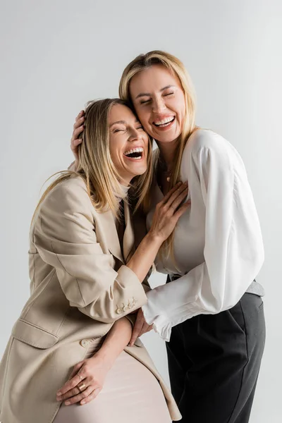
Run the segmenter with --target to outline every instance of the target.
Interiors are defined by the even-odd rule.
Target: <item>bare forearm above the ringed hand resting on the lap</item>
[[[128,345],[131,333],[132,326],[130,321],[126,317],[118,319],[111,327],[102,347],[97,351],[95,356],[109,364],[109,367],[112,367],[118,355]]]

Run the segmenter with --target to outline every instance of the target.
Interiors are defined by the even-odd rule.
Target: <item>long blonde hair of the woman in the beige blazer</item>
[[[35,209],[37,210],[49,192],[63,180],[80,176],[87,187],[88,195],[97,212],[111,209],[119,217],[119,200],[124,193],[119,183],[119,175],[111,159],[109,149],[109,112],[116,104],[128,106],[121,99],[102,99],[87,103],[85,109],[85,130],[82,132],[82,143],[78,147],[78,168],[76,171],[62,171],[51,185],[44,191]],[[131,109],[131,108],[130,108]],[[133,113],[135,113],[133,111]],[[59,176],[58,176],[59,175]],[[140,207],[144,197],[152,184],[152,138],[149,137],[147,153],[147,171],[135,176],[130,184],[128,197],[134,204],[135,210]]]

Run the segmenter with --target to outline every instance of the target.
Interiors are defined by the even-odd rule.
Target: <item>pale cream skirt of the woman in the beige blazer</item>
[[[92,340],[85,358],[101,345],[101,339]],[[99,395],[85,405],[62,404],[53,423],[171,423],[171,417],[157,379],[123,351]]]

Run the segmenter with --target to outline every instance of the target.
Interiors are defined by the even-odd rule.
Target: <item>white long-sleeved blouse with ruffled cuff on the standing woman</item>
[[[165,341],[173,326],[233,307],[264,262],[245,166],[228,141],[210,130],[193,133],[183,152],[180,179],[188,180],[191,207],[176,226],[174,258],[156,262],[157,271],[180,278],[150,290],[142,306],[145,320]],[[148,229],[162,198],[155,185]]]

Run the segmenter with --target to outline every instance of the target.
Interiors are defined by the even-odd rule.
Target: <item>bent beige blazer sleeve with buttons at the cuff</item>
[[[92,209],[84,183],[57,185],[39,211],[34,243],[44,262],[56,269],[70,305],[112,323],[144,305],[147,297],[131,269],[113,269],[113,256],[97,241]]]

